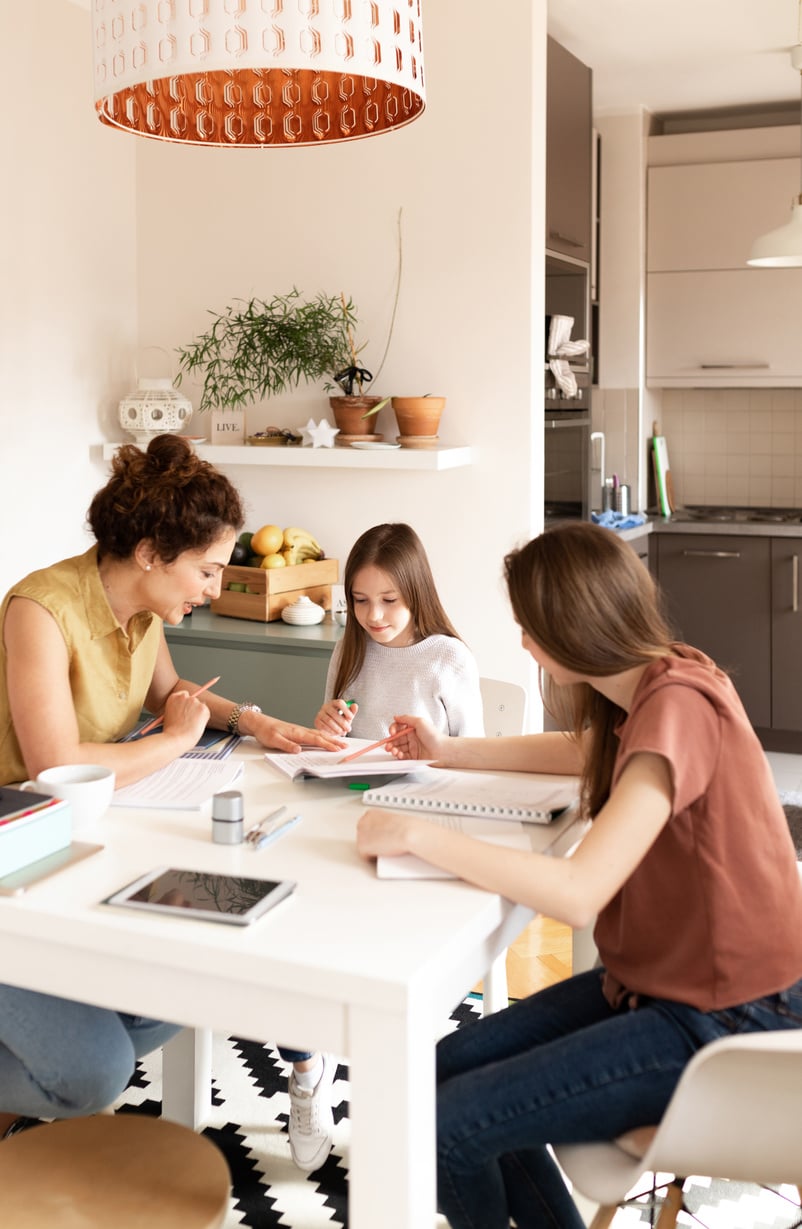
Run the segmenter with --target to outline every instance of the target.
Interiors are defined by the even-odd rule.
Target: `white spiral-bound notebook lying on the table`
[[[452,772],[431,768],[361,795],[365,806],[464,815],[481,820],[549,823],[578,798],[576,777],[533,773]]]

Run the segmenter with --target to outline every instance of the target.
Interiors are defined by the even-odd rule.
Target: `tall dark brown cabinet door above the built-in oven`
[[[593,74],[553,38],[547,52],[545,246],[590,265]]]

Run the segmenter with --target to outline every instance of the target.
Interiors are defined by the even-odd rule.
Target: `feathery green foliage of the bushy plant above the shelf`
[[[305,300],[295,288],[270,300],[237,299],[178,349],[183,375],[201,375],[200,410],[231,410],[301,381],[341,372],[352,358],[354,305],[344,295]],[[337,377],[335,377],[337,379]]]

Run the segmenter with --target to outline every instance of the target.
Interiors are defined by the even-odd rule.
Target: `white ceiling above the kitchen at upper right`
[[[548,14],[593,69],[597,113],[798,107],[797,0],[548,0]]]

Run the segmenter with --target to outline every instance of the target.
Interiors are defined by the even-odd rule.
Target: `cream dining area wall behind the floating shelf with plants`
[[[14,16],[4,6],[0,34],[4,90],[25,100],[15,109],[28,120],[11,136],[6,183],[17,192],[4,193],[1,219],[1,465],[14,527],[0,589],[84,548],[85,511],[106,476],[97,445],[123,436],[115,407],[138,363],[141,374],[142,348],[172,354],[208,308],[292,285],[343,289],[375,365],[402,209],[402,296],[376,391],[445,395],[441,439],[474,445],[478,463],[415,476],[228,472],[253,525],[306,525],[341,559],[368,525],[410,521],[480,670],[532,691],[501,559],[542,517],[532,339],[544,310],[545,2],[507,4],[500,21],[480,0],[429,0],[425,114],[314,150],[184,149],[102,128],[90,15],[66,0]],[[322,387],[307,387],[249,424],[327,409]],[[389,415],[382,429],[392,431]]]

